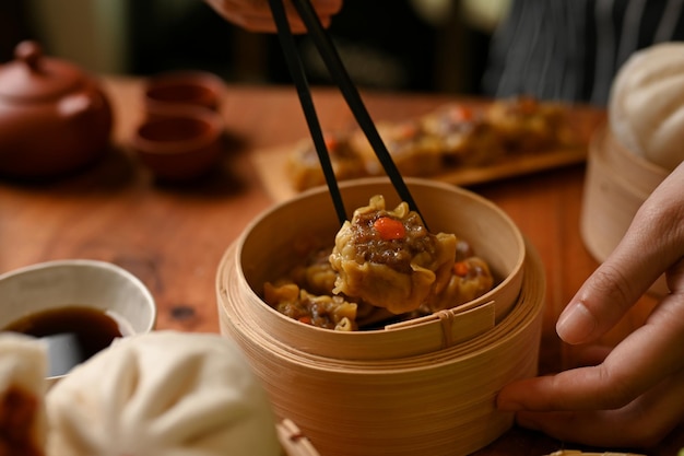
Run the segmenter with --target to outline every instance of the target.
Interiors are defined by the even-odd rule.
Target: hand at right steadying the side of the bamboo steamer
[[[684,420],[684,163],[652,192],[613,254],[556,325],[591,344],[665,273],[670,294],[645,325],[593,364],[506,386],[497,398],[518,423],[563,441],[649,447]]]

